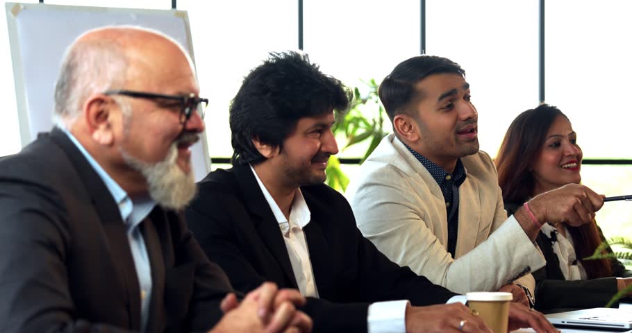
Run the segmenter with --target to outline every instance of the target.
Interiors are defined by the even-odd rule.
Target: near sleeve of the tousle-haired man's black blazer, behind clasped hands
[[[249,216],[245,207],[235,202],[233,189],[220,184],[200,189],[198,197],[185,211],[185,221],[192,230],[204,253],[226,272],[237,291],[247,293],[263,282],[275,282],[280,288],[292,288],[290,282],[278,276],[262,274],[249,257],[257,255],[257,249],[244,249],[248,244]],[[244,230],[245,229],[245,230]],[[249,253],[244,253],[248,251]],[[248,255],[248,257],[247,257]],[[265,258],[259,262],[263,264]],[[336,303],[321,298],[307,298],[301,309],[314,321],[314,332],[367,332],[369,303]]]

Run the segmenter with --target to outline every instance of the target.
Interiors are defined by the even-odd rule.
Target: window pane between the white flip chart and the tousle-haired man
[[[269,52],[298,49],[297,1],[181,0],[178,9],[188,10],[200,88],[210,99],[206,110],[209,154],[230,157],[230,101],[244,76]]]

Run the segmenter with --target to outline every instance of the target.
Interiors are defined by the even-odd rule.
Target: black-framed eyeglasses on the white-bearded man
[[[206,106],[208,106],[208,99],[203,99],[201,97],[195,96],[195,94],[191,93],[188,96],[183,95],[165,95],[165,94],[153,94],[151,92],[134,92],[132,90],[108,90],[107,92],[103,92],[105,95],[122,95],[129,96],[138,99],[151,99],[152,101],[174,101],[174,103],[179,103],[180,107],[180,123],[186,123],[193,114],[194,110],[197,110],[197,113],[200,115],[201,119],[204,119],[204,112]],[[163,106],[168,103],[161,103]]]

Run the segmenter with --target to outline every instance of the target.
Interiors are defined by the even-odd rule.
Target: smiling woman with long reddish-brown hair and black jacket
[[[558,108],[543,104],[522,112],[507,130],[496,158],[508,213],[544,191],[581,182],[582,157],[577,134]],[[542,311],[602,307],[632,284],[632,271],[616,259],[584,260],[604,241],[596,223],[546,223],[536,241],[547,259],[547,266],[533,273],[535,307]]]

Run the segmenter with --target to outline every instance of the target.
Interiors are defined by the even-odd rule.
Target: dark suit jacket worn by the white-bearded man
[[[207,330],[231,290],[176,212],[142,223],[149,332]],[[101,178],[60,130],[0,161],[0,332],[140,330],[126,228]]]

